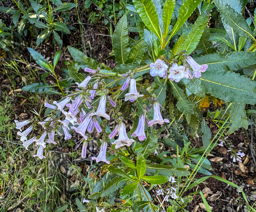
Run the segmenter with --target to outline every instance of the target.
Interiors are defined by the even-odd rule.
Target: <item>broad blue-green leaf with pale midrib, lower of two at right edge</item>
[[[202,73],[206,93],[227,102],[255,104],[256,82],[238,73],[210,71]]]

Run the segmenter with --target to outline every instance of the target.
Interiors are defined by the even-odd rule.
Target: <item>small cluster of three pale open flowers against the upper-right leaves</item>
[[[188,65],[192,68],[193,74],[191,74]],[[157,59],[155,63],[150,64],[150,75],[163,77],[166,79],[168,75],[168,79],[171,81],[179,82],[181,79],[193,79],[193,77],[200,78],[201,73],[205,72],[208,68],[208,65],[199,65],[194,59],[190,56],[185,57],[184,65],[178,65],[177,63],[173,63],[172,67],[168,70],[168,65],[165,64],[164,61]]]

